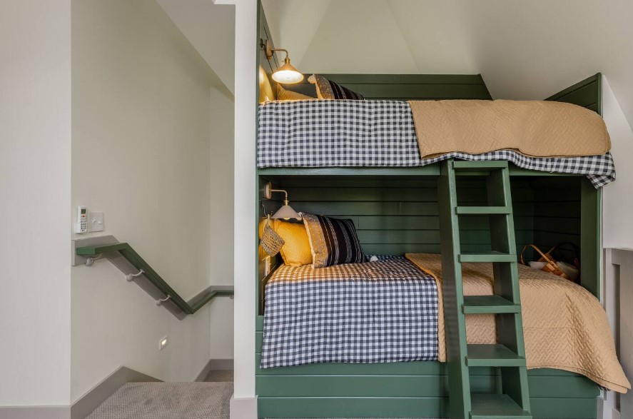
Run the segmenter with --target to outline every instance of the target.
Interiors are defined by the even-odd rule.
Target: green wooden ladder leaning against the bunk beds
[[[486,176],[487,206],[458,205],[456,176]],[[450,418],[532,418],[507,161],[445,161],[438,186]],[[460,216],[490,216],[492,251],[461,251]],[[465,262],[492,263],[494,296],[464,296]],[[467,344],[467,314],[495,314],[496,345]],[[473,367],[498,368],[496,393],[471,393]]]

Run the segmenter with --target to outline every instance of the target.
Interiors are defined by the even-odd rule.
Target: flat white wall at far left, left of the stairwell
[[[68,405],[71,4],[0,2],[0,406]]]

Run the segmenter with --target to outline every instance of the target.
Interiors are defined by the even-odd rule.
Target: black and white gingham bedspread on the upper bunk
[[[259,108],[259,168],[410,167],[447,158],[507,160],[530,170],[584,174],[596,188],[615,180],[610,153],[535,158],[502,150],[483,154],[447,153],[422,159],[406,102],[273,101]]]

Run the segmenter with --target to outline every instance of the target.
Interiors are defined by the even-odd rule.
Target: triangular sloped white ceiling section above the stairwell
[[[235,6],[211,0],[156,0],[228,90],[235,87]]]

